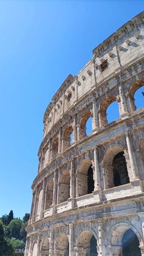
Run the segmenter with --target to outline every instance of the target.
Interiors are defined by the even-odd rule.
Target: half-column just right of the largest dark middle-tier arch
[[[131,141],[130,134],[128,132],[125,133],[125,136],[126,136],[126,144],[127,144],[127,147],[128,147],[129,160],[130,160],[130,163],[131,163],[132,177],[133,177],[133,180],[136,180],[136,179],[138,179],[138,175],[137,175],[138,172],[137,172],[137,166],[136,166],[132,141]]]

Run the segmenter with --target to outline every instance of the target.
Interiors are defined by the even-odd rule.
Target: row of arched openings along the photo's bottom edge
[[[117,233],[116,236],[119,234]],[[115,254],[109,254],[109,249],[106,249],[106,255],[123,255],[123,256],[141,256],[140,242],[132,229],[127,229],[120,233],[121,240],[117,244],[113,244],[112,252]],[[100,238],[103,239],[103,238]],[[70,237],[65,233],[60,233],[54,241],[54,252],[52,255],[69,256],[70,252]],[[98,236],[91,230],[84,230],[80,233],[76,246],[71,250],[73,255],[76,256],[97,256],[101,255],[101,243],[98,241]],[[44,238],[40,244],[40,256],[49,256],[49,238]],[[37,243],[34,243],[32,249],[32,256],[37,255],[38,251]],[[100,252],[100,254],[99,254]]]

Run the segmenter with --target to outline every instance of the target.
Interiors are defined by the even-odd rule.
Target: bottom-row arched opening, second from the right
[[[78,255],[97,256],[97,241],[95,236],[89,230],[81,232],[77,240]]]

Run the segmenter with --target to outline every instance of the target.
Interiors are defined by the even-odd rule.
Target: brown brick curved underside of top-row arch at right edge
[[[135,95],[135,92],[137,92],[137,90],[139,90],[140,87],[142,87],[143,85],[144,85],[144,78],[141,78],[135,81],[129,88],[129,103],[130,103],[131,111],[135,111],[137,109],[137,106],[135,105],[134,95]]]

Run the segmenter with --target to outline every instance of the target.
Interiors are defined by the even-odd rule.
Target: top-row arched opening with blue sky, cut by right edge
[[[139,79],[132,84],[129,90],[129,103],[131,111],[143,108],[144,106],[144,79]]]

